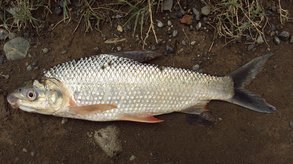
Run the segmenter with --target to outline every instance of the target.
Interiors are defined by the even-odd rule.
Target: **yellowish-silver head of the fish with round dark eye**
[[[67,89],[53,78],[37,76],[7,96],[14,109],[40,114],[53,114],[69,105]]]

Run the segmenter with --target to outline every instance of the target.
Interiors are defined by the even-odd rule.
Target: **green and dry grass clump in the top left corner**
[[[0,26],[6,28],[8,31],[13,27],[17,27],[21,31],[29,25],[38,28],[40,27],[39,22],[44,22],[32,15],[34,10],[44,6],[42,0],[6,0],[1,1],[0,6],[2,6],[1,10],[4,11],[4,16],[0,16],[3,22]]]

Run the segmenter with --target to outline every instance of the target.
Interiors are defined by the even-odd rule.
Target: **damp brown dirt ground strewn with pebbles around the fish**
[[[204,5],[200,1],[181,1],[182,6],[192,8],[197,5],[200,9]],[[292,2],[282,1],[282,7],[289,10],[293,16]],[[54,11],[55,2],[52,1],[51,10]],[[40,11],[42,13],[42,11]],[[155,25],[158,39],[166,41],[164,44],[155,44],[154,36],[151,35],[145,47],[150,50],[156,45],[156,52],[164,54],[166,45],[173,47],[175,39],[180,43],[176,53],[162,55],[148,63],[161,64],[166,66],[192,69],[198,61],[203,61],[200,68],[207,70],[209,74],[226,75],[240,66],[237,63],[245,64],[255,57],[274,53],[266,63],[264,69],[253,80],[248,87],[258,92],[270,104],[277,107],[278,112],[272,114],[258,113],[243,107],[224,101],[211,101],[208,109],[212,110],[212,116],[216,119],[213,128],[189,125],[185,121],[186,114],[170,113],[156,116],[160,123],[139,123],[131,121],[93,122],[79,119],[68,119],[68,123],[61,124],[62,118],[50,115],[29,113],[20,109],[13,109],[7,103],[5,96],[14,88],[38,74],[42,69],[51,67],[71,59],[91,56],[101,53],[112,52],[109,45],[122,46],[125,50],[142,50],[138,47],[138,41],[132,39],[133,31],[122,32],[122,37],[128,40],[119,42],[116,46],[104,43],[98,31],[85,33],[84,25],[72,34],[77,22],[77,16],[72,14],[71,22],[66,26],[62,22],[55,29],[51,24],[56,24],[62,16],[49,15],[44,27],[40,29],[39,35],[35,29],[27,29],[23,32],[33,32],[37,43],[32,43],[30,54],[24,60],[9,61],[0,64],[3,75],[9,74],[9,78],[1,78],[0,86],[0,163],[293,163],[293,127],[289,122],[293,121],[293,48],[289,41],[281,41],[275,45],[272,37],[268,38],[268,45],[257,46],[254,52],[247,51],[248,44],[242,38],[241,43],[228,43],[225,39],[218,38],[217,46],[209,50],[214,34],[213,28],[208,25],[209,33],[205,30],[196,32],[190,31],[189,26],[180,23],[179,18],[170,19],[174,28],[179,34],[171,38],[165,34],[168,28],[167,16],[154,14],[154,20],[161,20],[164,27],[158,28]],[[176,11],[173,11],[176,14]],[[287,22],[282,29],[278,21],[277,13],[272,13],[272,20],[277,31],[287,31],[293,34],[292,22]],[[126,21],[123,19],[122,21]],[[202,18],[200,19],[202,22]],[[113,25],[117,25],[117,19]],[[194,23],[194,27],[197,23]],[[133,29],[134,20],[130,22]],[[107,39],[116,38],[111,35],[118,35],[117,29],[108,26],[100,27]],[[202,28],[203,28],[202,27]],[[147,30],[147,26],[144,27]],[[186,38],[183,29],[188,36]],[[269,27],[264,30],[267,32]],[[23,32],[19,32],[20,35]],[[135,32],[140,35],[139,28]],[[136,35],[135,34],[135,35]],[[202,38],[205,34],[205,39]],[[273,36],[275,37],[275,36]],[[184,46],[181,41],[187,44],[196,41],[195,46]],[[8,39],[6,39],[8,41]],[[6,42],[5,41],[5,42]],[[190,41],[190,42],[189,42]],[[69,43],[70,42],[70,43]],[[123,45],[124,47],[123,47]],[[129,44],[132,45],[130,48]],[[3,51],[4,43],[1,42],[0,52]],[[37,45],[37,46],[35,46]],[[35,47],[34,47],[35,46]],[[42,53],[43,48],[51,48],[48,53]],[[96,52],[93,48],[98,47]],[[179,52],[184,48],[183,52]],[[61,54],[63,50],[68,52]],[[190,53],[187,53],[189,51]],[[43,55],[44,54],[44,55]],[[71,59],[68,56],[71,55]],[[199,55],[199,56],[198,56]],[[239,57],[241,56],[241,58]],[[193,59],[194,58],[194,59]],[[39,70],[33,68],[27,70],[27,64],[38,62]],[[193,63],[195,62],[195,63]],[[274,68],[274,66],[276,66]],[[221,120],[222,119],[222,120]],[[221,121],[220,121],[221,120]],[[109,158],[94,142],[93,137],[88,137],[87,132],[95,132],[108,125],[116,125],[120,128],[119,138],[122,141],[123,151],[116,158]],[[27,152],[23,151],[23,148]],[[130,161],[134,155],[137,158]]]

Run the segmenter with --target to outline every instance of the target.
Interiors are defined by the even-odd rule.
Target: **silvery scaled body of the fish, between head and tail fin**
[[[216,77],[186,69],[143,64],[106,54],[56,65],[44,71],[43,76],[61,81],[72,93],[71,98],[77,106],[117,106],[89,116],[72,116],[64,112],[68,117],[93,121],[119,120],[125,115],[170,113],[234,95],[233,81],[229,76]]]

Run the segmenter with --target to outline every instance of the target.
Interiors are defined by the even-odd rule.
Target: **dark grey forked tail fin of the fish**
[[[277,112],[277,109],[268,104],[259,94],[246,89],[246,86],[251,82],[255,75],[258,74],[258,72],[264,66],[265,62],[272,55],[273,54],[267,54],[257,57],[242,67],[231,72],[230,76],[234,81],[235,95],[233,98],[227,101],[258,112]]]

